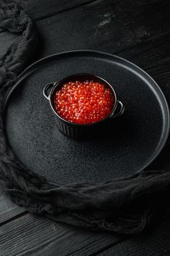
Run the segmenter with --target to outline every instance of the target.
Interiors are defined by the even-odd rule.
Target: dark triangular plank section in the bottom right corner
[[[126,241],[104,250],[98,256],[169,256],[170,220],[158,223],[157,227],[142,235],[131,236]]]

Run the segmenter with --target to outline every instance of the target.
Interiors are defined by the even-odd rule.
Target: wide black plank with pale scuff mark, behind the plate
[[[170,1],[144,3],[133,0],[128,7],[127,1],[95,1],[37,21],[36,59],[75,49],[117,53],[169,33]]]

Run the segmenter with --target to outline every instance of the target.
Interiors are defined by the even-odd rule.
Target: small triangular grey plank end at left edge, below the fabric
[[[9,200],[2,189],[0,189],[0,225],[25,212],[22,207],[15,205]]]

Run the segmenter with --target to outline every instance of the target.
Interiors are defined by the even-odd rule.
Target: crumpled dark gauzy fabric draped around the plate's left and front
[[[0,29],[18,35],[0,59],[0,108],[5,92],[26,67],[36,45],[36,30],[15,1],[0,2]],[[1,37],[1,35],[0,35]],[[169,93],[169,89],[167,89]],[[166,146],[163,157],[168,156]],[[161,160],[162,170],[144,170],[133,176],[104,184],[48,183],[26,170],[4,136],[0,116],[0,177],[10,198],[28,211],[45,214],[60,222],[117,233],[139,233],[170,211],[170,164]],[[163,169],[164,167],[164,169]]]

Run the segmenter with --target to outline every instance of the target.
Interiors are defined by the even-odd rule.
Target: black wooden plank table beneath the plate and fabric
[[[170,1],[23,0],[36,21],[33,61],[66,50],[102,50],[146,70],[170,86]],[[0,32],[0,54],[15,35]],[[170,95],[166,95],[170,100]],[[95,233],[29,214],[0,194],[0,256],[170,255],[170,220],[136,236]]]

